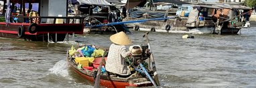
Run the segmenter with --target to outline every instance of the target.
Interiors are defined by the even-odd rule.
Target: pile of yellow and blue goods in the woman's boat
[[[78,48],[77,50],[72,46],[68,53],[72,58],[74,58],[78,68],[88,68],[92,67],[92,63],[95,58],[103,56],[104,50],[97,49],[94,45],[86,45]]]

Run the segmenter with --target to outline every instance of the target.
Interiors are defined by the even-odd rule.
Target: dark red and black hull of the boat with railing
[[[48,39],[48,33],[50,34],[50,37],[54,38],[53,41],[55,41],[55,37],[57,34],[57,40],[63,41],[66,37],[66,34],[82,34],[84,25],[82,23],[80,24],[38,24],[36,27],[37,32],[36,33],[29,33],[29,25],[31,23],[10,23],[9,25],[6,25],[6,23],[1,22],[0,23],[0,37],[7,37],[7,38],[13,38],[13,39],[28,39],[31,41],[46,41]],[[18,37],[18,29],[19,27],[24,28],[24,35],[23,37]]]

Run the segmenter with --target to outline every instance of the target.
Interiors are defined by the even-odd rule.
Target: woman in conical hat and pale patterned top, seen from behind
[[[129,45],[131,39],[123,31],[111,35],[109,39],[113,44],[109,47],[109,54],[105,65],[106,70],[118,75],[131,74],[129,67],[125,63],[125,57],[130,55],[130,52],[126,51],[125,45]]]

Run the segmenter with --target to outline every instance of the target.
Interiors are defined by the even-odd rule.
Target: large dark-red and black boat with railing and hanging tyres
[[[8,13],[11,22],[0,23],[0,37],[7,37],[13,39],[25,39],[30,41],[49,41],[54,42],[64,41],[68,34],[82,34],[84,29],[83,19],[84,17],[65,17],[65,8],[56,8],[56,3],[66,3],[66,1],[42,1],[42,0],[1,0],[4,3],[19,3],[23,5],[18,13],[9,13],[6,11],[5,17]],[[9,2],[7,2],[9,1]],[[39,3],[39,11],[31,11],[31,13],[25,13],[25,3]],[[50,5],[50,3],[52,5]],[[58,6],[59,7],[59,6]],[[66,7],[66,4],[60,7]],[[8,8],[8,7],[7,7]],[[55,9],[56,8],[56,9]],[[3,8],[5,9],[5,8]],[[40,11],[40,9],[42,9]],[[51,12],[52,11],[52,12]],[[55,13],[56,11],[56,13]],[[54,13],[53,13],[54,12]],[[58,13],[60,12],[60,13]],[[29,14],[29,15],[28,15]],[[51,15],[51,16],[49,16]],[[59,17],[63,15],[64,17]],[[67,15],[66,15],[67,16]],[[12,21],[17,18],[17,21]],[[76,22],[75,22],[76,21]]]

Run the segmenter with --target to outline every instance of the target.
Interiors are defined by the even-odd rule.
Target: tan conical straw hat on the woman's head
[[[123,31],[111,35],[110,41],[118,45],[129,45],[131,43],[131,39]]]

